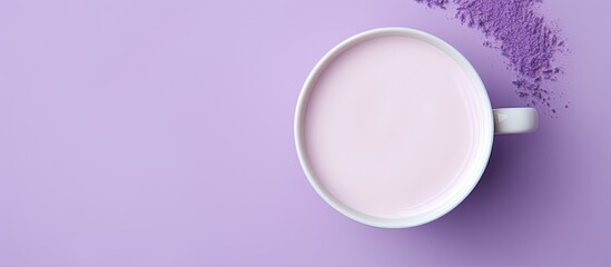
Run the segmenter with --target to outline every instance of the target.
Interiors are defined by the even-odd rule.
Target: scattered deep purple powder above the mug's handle
[[[484,46],[499,49],[507,69],[516,72],[513,85],[529,106],[543,107],[555,113],[551,105],[553,91],[549,82],[558,80],[562,70],[554,65],[564,41],[559,30],[536,13],[541,0],[415,0],[431,8],[455,7],[461,23],[484,33]],[[568,106],[565,106],[568,107]]]

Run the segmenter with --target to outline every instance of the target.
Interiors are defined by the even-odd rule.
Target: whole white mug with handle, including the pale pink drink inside
[[[316,192],[383,228],[418,226],[480,180],[496,134],[535,130],[532,108],[492,109],[475,69],[430,33],[381,28],[327,52],[295,111],[295,144]]]

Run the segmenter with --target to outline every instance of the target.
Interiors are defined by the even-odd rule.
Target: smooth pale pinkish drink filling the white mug
[[[311,90],[304,142],[313,175],[329,196],[374,217],[440,205],[482,152],[472,82],[451,56],[413,37],[352,46]]]

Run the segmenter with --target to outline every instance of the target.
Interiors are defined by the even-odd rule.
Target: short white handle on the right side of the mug
[[[534,108],[493,109],[494,134],[525,134],[536,130],[539,116]]]

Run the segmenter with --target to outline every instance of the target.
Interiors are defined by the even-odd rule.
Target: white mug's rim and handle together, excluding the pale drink
[[[471,82],[474,85],[474,93],[477,96],[476,105],[479,109],[483,109],[483,119],[481,120],[480,130],[483,132],[483,148],[480,149],[481,152],[474,155],[476,157],[477,164],[473,166],[471,175],[463,177],[461,186],[457,187],[452,192],[449,192],[444,196],[443,201],[440,201],[440,205],[425,210],[424,212],[414,214],[411,216],[405,216],[401,218],[381,218],[376,216],[371,216],[367,214],[358,212],[347,205],[339,201],[337,198],[332,196],[325,188],[322,186],[321,180],[316,177],[317,171],[313,169],[311,165],[311,156],[306,151],[304,132],[305,132],[305,115],[311,96],[311,91],[318,79],[322,71],[333,62],[342,52],[351,49],[353,46],[361,43],[364,40],[371,40],[385,36],[406,36],[415,38],[418,40],[426,41],[438,49],[443,50],[447,56],[453,58],[462,68],[462,71],[469,77]],[[486,111],[487,110],[487,111]],[[451,118],[447,118],[451,119]],[[358,33],[354,37],[348,38],[347,40],[341,42],[329,52],[327,52],[321,61],[315,66],[315,68],[309,73],[305,85],[303,86],[302,92],[296,107],[295,112],[295,144],[297,147],[297,154],[299,161],[304,169],[304,172],[309,180],[311,185],[314,187],[316,192],[333,208],[335,208],[341,214],[366,225],[382,227],[382,228],[406,228],[426,224],[434,219],[440,218],[441,216],[447,214],[454,207],[456,207],[463,199],[472,191],[477,181],[480,180],[490,158],[490,152],[492,149],[492,142],[494,135],[499,134],[522,134],[534,131],[538,126],[538,113],[533,108],[501,108],[492,109],[490,99],[486,93],[486,89],[480,79],[475,69],[471,63],[452,46],[441,40],[437,37],[434,37],[430,33],[422,32],[414,29],[407,28],[381,28],[369,31]],[[415,126],[416,127],[416,126]],[[443,168],[443,166],[441,166]]]

